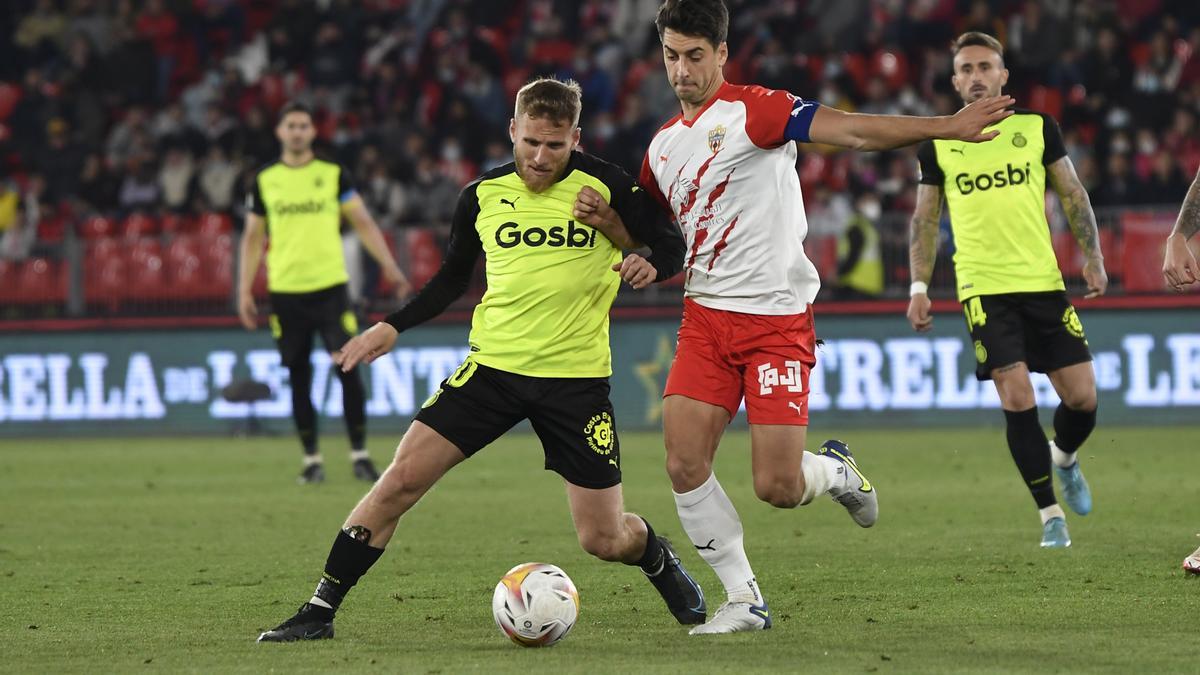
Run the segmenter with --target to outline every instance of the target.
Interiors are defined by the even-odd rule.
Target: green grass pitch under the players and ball
[[[820,423],[820,420],[817,420]],[[820,428],[814,434],[822,434]],[[1074,545],[1038,548],[1032,500],[1000,429],[842,435],[880,490],[859,530],[833,502],[776,510],[754,498],[745,432],[718,476],[775,616],[766,633],[691,638],[636,569],[575,540],[560,480],[514,434],[460,466],[401,521],[350,593],[337,638],[254,637],[312,591],[365,491],[341,437],[329,480],[298,486],[290,436],[0,444],[0,671],[12,673],[1181,673],[1200,668],[1196,545],[1200,428],[1099,428],[1084,450],[1096,496],[1068,516]],[[814,437],[814,446],[823,438]],[[384,459],[395,437],[373,437]],[[656,434],[626,434],[625,501],[686,545]],[[575,579],[572,633],[524,650],[490,598],[511,566]]]

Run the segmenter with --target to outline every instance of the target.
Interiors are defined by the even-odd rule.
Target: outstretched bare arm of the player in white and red
[[[932,138],[983,143],[1000,133],[984,130],[1012,115],[1007,108],[1013,102],[1012,96],[990,96],[953,115],[934,118],[846,113],[821,106],[812,117],[809,137],[814,143],[863,151],[890,150]]]

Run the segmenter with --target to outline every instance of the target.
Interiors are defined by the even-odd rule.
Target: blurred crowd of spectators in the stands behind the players
[[[1200,166],[1196,0],[728,0],[726,77],[847,110],[947,114],[950,40],[996,35],[1008,91],[1062,124],[1097,205],[1182,199]],[[275,112],[317,109],[384,228],[449,219],[510,160],[530,77],[583,85],[583,144],[636,172],[677,102],[658,0],[10,0],[0,16],[0,251],[47,214],[240,216]],[[812,228],[912,208],[911,150],[808,148]]]

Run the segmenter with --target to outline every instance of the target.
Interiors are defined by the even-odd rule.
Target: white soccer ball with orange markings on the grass
[[[500,632],[523,647],[548,647],[566,637],[580,615],[580,592],[565,572],[545,562],[510,569],[492,593]]]

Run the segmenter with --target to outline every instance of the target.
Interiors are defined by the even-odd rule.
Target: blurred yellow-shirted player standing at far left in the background
[[[258,172],[246,196],[248,213],[241,235],[238,316],[247,330],[258,327],[258,307],[251,289],[263,256],[263,240],[269,235],[270,327],[280,359],[288,369],[292,419],[304,446],[305,466],[300,482],[320,483],[325,471],[317,452],[317,411],[312,405],[312,335],[320,334],[325,348],[335,352],[359,331],[346,291],[349,276],[338,234],[343,215],[367,252],[378,261],[396,294],[407,295],[409,285],[354,190],[349,174],[313,155],[312,141],[317,132],[308,109],[299,103],[284,106],[275,135],[283,147],[282,156]],[[365,444],[362,380],[358,372],[335,370],[342,382],[342,410],[354,476],[374,482],[379,473]]]

